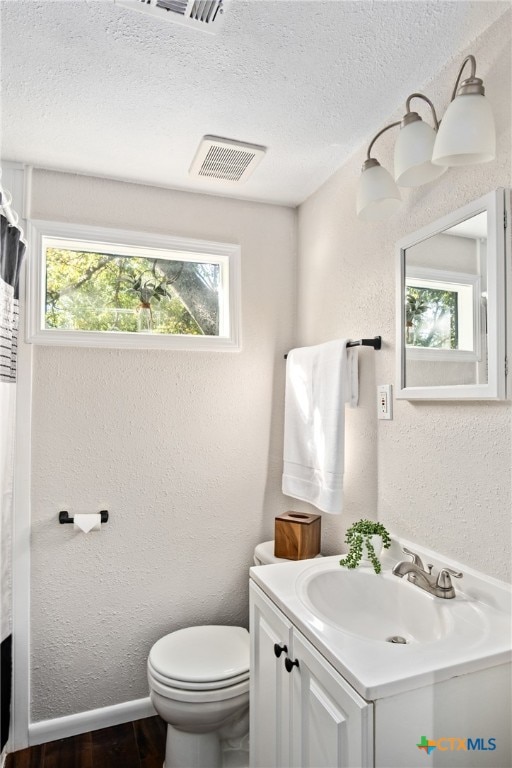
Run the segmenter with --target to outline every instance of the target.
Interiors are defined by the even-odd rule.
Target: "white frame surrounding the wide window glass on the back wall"
[[[28,223],[29,253],[27,259],[27,327],[26,340],[31,344],[72,347],[107,347],[111,349],[174,349],[183,351],[239,351],[241,348],[240,317],[240,246],[210,240],[161,235],[127,229],[97,227],[87,224],[32,219]],[[190,254],[190,261],[218,263],[227,296],[221,307],[228,312],[227,335],[194,336],[192,334],[128,333],[108,331],[70,331],[46,328],[46,263],[43,237],[67,241],[147,248]],[[133,254],[134,256],[141,254]]]

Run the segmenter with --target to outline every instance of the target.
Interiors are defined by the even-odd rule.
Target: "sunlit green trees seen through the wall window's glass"
[[[218,264],[55,247],[45,255],[47,328],[136,332],[148,308],[153,333],[219,333]]]

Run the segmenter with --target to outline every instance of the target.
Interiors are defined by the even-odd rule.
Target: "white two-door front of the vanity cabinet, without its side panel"
[[[251,768],[370,768],[373,705],[251,584]]]

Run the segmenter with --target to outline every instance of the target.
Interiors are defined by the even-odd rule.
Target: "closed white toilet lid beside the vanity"
[[[164,678],[190,683],[240,677],[249,671],[249,633],[243,627],[200,626],[171,632],[149,653]]]

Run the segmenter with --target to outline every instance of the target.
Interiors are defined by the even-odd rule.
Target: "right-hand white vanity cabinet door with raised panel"
[[[362,699],[297,630],[293,686],[294,768],[373,766],[373,704]]]

